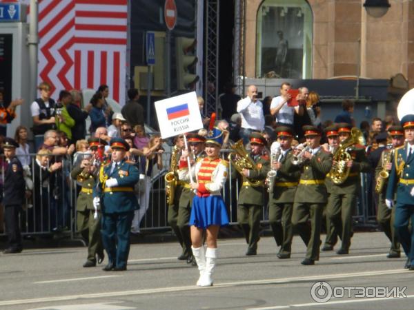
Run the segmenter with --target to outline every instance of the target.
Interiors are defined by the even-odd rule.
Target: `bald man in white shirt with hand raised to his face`
[[[264,129],[263,105],[257,100],[257,87],[250,85],[247,89],[246,98],[237,103],[237,113],[242,118],[242,128],[239,136],[243,139],[243,144],[249,142],[252,132],[261,132]]]

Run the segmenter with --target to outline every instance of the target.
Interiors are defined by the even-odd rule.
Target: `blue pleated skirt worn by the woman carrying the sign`
[[[206,229],[210,225],[228,225],[226,205],[221,196],[193,198],[190,225]]]

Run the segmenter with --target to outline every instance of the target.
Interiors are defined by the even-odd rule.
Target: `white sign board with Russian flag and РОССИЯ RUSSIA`
[[[155,101],[161,138],[193,132],[203,127],[195,92]]]

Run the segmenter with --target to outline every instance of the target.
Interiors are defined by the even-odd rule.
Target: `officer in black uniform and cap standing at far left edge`
[[[4,169],[3,205],[8,247],[3,251],[3,254],[20,253],[23,250],[19,213],[25,198],[26,183],[23,178],[23,167],[16,157],[17,147],[19,147],[19,143],[12,138],[4,139],[3,150],[6,157],[6,167]]]

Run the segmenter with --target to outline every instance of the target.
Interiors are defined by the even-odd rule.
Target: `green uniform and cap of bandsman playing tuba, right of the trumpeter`
[[[341,132],[351,134],[351,127],[349,124],[340,123],[338,124],[338,132],[339,134]],[[341,143],[341,145],[344,145],[344,143]],[[363,145],[354,144],[346,147],[346,152],[351,155],[353,166],[344,183],[340,185],[333,183],[331,185],[331,193],[326,209],[329,218],[331,218],[335,229],[337,229],[342,239],[341,249],[337,251],[337,254],[348,254],[349,246],[351,245],[352,216],[357,204],[357,193],[360,187],[359,174],[361,172],[369,172],[371,169]]]

